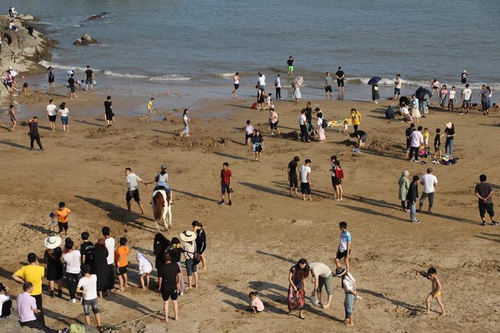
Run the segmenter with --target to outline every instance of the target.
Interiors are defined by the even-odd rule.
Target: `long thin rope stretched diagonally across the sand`
[[[494,167],[494,166],[495,166],[495,165],[497,165],[497,164],[498,164],[498,163],[497,163],[497,162],[495,162],[495,163],[491,164],[491,165],[490,165],[490,166],[488,166],[488,167],[485,167],[485,168],[483,168],[483,169],[481,169],[481,170],[475,171],[474,173],[471,173],[471,174],[469,174],[468,176],[465,176],[464,178],[462,178],[461,180],[458,180],[457,182],[453,182],[451,185],[449,185],[449,186],[447,186],[447,187],[443,187],[442,189],[443,189],[443,190],[444,190],[444,189],[449,189],[450,187],[453,187],[453,186],[457,185],[458,183],[462,182],[463,180],[466,180],[467,178],[470,178],[470,177],[472,177],[472,176],[474,176],[474,175],[477,175],[478,173],[481,173],[481,172],[483,172],[483,171],[485,171],[485,170],[487,170],[487,169],[490,169],[491,167]],[[363,199],[361,199],[360,201],[362,201],[362,202],[363,202]],[[392,207],[387,207],[387,209],[394,210],[394,208],[392,208]],[[383,217],[385,218],[386,216],[383,216]],[[371,221],[369,221],[369,222],[367,222],[367,223],[365,223],[365,224],[363,224],[363,225],[360,225],[358,228],[353,228],[353,229],[351,229],[351,231],[350,231],[350,232],[352,233],[352,232],[356,231],[356,229],[364,228],[366,225],[372,224],[372,223],[374,223],[374,221],[377,221],[377,220],[378,220],[378,219],[372,219]],[[332,241],[327,241],[327,242],[326,242],[326,243],[324,243],[324,244],[321,244],[321,245],[316,246],[315,248],[312,248],[312,249],[310,249],[310,250],[308,250],[308,251],[306,251],[306,252],[304,252],[304,253],[301,253],[301,255],[298,255],[297,257],[304,257],[304,256],[308,255],[309,253],[313,253],[315,250],[318,250],[319,248],[323,248],[324,246],[328,246],[328,245],[330,245],[330,244],[336,243],[337,241],[338,241],[338,239],[333,239]],[[256,276],[263,275],[263,274],[265,274],[265,273],[267,273],[267,272],[269,272],[269,271],[273,271],[275,268],[278,268],[278,267],[282,266],[283,264],[288,264],[288,263],[290,263],[290,260],[288,260],[288,259],[282,260],[282,261],[281,261],[281,262],[279,262],[278,264],[275,264],[274,266],[271,266],[271,267],[267,268],[267,269],[266,269],[266,270],[264,270],[264,271],[260,271],[260,272],[258,272],[258,273],[253,274],[253,275],[250,275],[248,278],[244,278],[244,279],[242,279],[242,280],[238,280],[238,281],[235,281],[235,282],[233,282],[233,283],[226,284],[226,285],[225,285],[225,286],[223,286],[223,287],[219,287],[219,288],[217,288],[217,289],[213,289],[212,291],[208,291],[208,292],[206,292],[206,293],[202,293],[201,295],[196,296],[196,297],[193,297],[193,298],[190,298],[189,300],[185,300],[185,301],[183,301],[183,302],[178,302],[178,305],[179,305],[179,306],[181,306],[181,305],[183,305],[183,304],[185,304],[185,303],[191,302],[191,301],[193,301],[193,300],[197,300],[197,299],[202,298],[202,297],[204,297],[204,296],[208,296],[208,295],[210,295],[210,294],[212,294],[212,293],[217,293],[217,291],[221,291],[221,290],[223,290],[223,289],[227,289],[227,288],[232,287],[232,286],[234,286],[234,285],[236,285],[236,284],[239,284],[240,282],[244,282],[244,281],[251,280],[251,279],[255,278]],[[171,306],[170,308],[172,308],[172,306]],[[140,320],[142,320],[142,319],[144,319],[144,318],[148,318],[148,317],[151,317],[151,316],[155,316],[156,314],[160,314],[161,312],[163,312],[163,309],[160,309],[160,310],[158,310],[158,311],[154,311],[154,312],[152,312],[151,314],[146,314],[146,315],[144,315],[144,316],[140,316],[140,317],[138,317],[138,318],[131,319],[130,321],[126,321],[126,322],[121,323],[121,324],[108,326],[108,327],[106,327],[106,329],[108,329],[108,328],[109,328],[109,332],[111,332],[112,330],[115,330],[115,329],[117,329],[118,327],[122,327],[122,326],[124,326],[124,325],[128,325],[128,324],[130,324],[130,323],[134,323],[135,321],[140,321]]]

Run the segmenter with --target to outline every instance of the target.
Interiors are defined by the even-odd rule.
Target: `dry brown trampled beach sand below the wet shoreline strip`
[[[88,94],[83,94],[68,106],[77,112],[95,103],[96,110],[101,110],[102,97],[94,95],[88,101]],[[116,97],[115,101],[119,103]],[[408,124],[383,119],[383,110],[390,102],[313,101],[313,105],[321,105],[328,120],[347,117],[351,107],[360,110],[360,129],[368,133],[372,148],[356,155],[351,152],[351,140],[337,128],[326,131],[326,144],[288,139],[297,131],[297,117],[305,101],[299,105],[276,102],[281,130],[288,133],[283,137],[268,135],[267,111],[250,110],[252,102],[204,102],[191,112],[192,137],[184,140],[176,137],[182,128],[181,114],[173,112],[167,121],[124,119],[117,112],[117,123],[110,130],[104,128],[102,117],[79,114],[72,118],[66,135],[61,133],[59,119],[58,132],[51,133],[42,118],[44,152],[26,148],[26,127],[19,127],[17,133],[1,130],[2,282],[13,293],[21,291],[10,275],[26,262],[28,252],[42,257],[44,237],[56,230],[49,225],[49,212],[64,200],[74,212],[69,236],[76,244],[80,244],[79,234],[84,230],[96,241],[101,227],[108,225],[113,237],[126,236],[132,249],[129,280],[133,287],[99,303],[103,324],[119,324],[161,309],[158,293],[135,288],[135,252],[140,250],[152,259],[156,228],[144,187],[140,191],[147,214],[137,214],[135,204],[134,212],[126,211],[123,172],[131,167],[144,180],[152,180],[160,164],[167,163],[176,204],[172,209],[174,229],[165,236],[178,235],[190,228],[193,220],[203,223],[208,235],[208,271],[200,273],[199,289],[180,298],[180,321],[165,325],[160,323],[160,314],[126,325],[120,332],[499,330],[500,234],[498,228],[478,224],[474,196],[480,173],[487,173],[493,184],[498,182],[497,113],[483,117],[474,112],[466,117],[433,111],[421,119],[422,126],[431,130],[431,139],[435,128],[444,129],[447,121],[456,124],[454,151],[460,162],[433,166],[439,180],[434,214],[418,214],[422,223],[413,225],[408,214],[399,211],[397,180],[403,169],[421,175],[430,164],[401,158]],[[44,101],[35,101],[31,108],[44,110]],[[226,116],[203,116],[221,110]],[[265,135],[261,163],[254,162],[253,153],[242,144],[247,119],[260,123],[256,127]],[[288,195],[286,167],[294,155],[301,161],[313,161],[313,202]],[[342,202],[332,199],[330,155],[338,155],[344,168]],[[219,170],[226,161],[233,171],[232,207],[217,205]],[[335,280],[330,309],[313,307],[307,300],[305,321],[287,316],[290,266],[300,257],[335,266],[340,221],[349,223],[351,269],[363,296],[356,304],[356,327],[341,323],[344,292],[339,280]],[[444,318],[437,316],[435,302],[433,313],[424,315],[424,298],[431,283],[411,273],[412,268],[426,270],[429,266],[437,268],[442,280],[448,313]],[[155,287],[156,280],[151,284]],[[246,311],[251,290],[259,291],[265,312],[253,315]],[[308,280],[306,294],[311,291]],[[67,289],[63,300],[49,298],[46,286],[44,293],[49,326],[83,322],[81,305],[67,302]]]

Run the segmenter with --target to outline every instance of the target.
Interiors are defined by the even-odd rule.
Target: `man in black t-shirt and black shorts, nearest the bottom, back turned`
[[[169,322],[168,310],[169,300],[174,304],[174,320],[178,321],[178,290],[181,289],[181,268],[172,262],[172,256],[165,253],[163,256],[165,264],[158,269],[158,283],[163,299],[163,311],[165,312],[165,323]]]

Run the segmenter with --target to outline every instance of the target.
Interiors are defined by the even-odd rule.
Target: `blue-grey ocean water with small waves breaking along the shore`
[[[405,92],[428,86],[433,78],[458,85],[462,69],[473,88],[487,83],[500,89],[498,0],[480,6],[470,0],[0,3],[48,25],[49,37],[59,44],[44,65],[59,68],[60,78],[67,68],[81,73],[90,65],[101,87],[119,84],[131,94],[165,89],[198,94],[193,87],[205,87],[200,96],[211,91],[222,96],[239,71],[242,93],[250,95],[256,73],[263,71],[270,87],[274,76],[286,71],[289,56],[313,96],[322,96],[324,72],[335,73],[338,66],[347,76],[346,99],[369,99],[366,82],[372,76],[383,78],[382,97],[390,96],[397,73]],[[103,19],[85,22],[101,12],[107,12]],[[101,43],[74,46],[83,33]]]

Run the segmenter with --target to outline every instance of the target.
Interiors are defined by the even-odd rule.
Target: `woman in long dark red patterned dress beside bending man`
[[[292,315],[292,311],[299,311],[299,318],[306,319],[303,316],[303,309],[305,304],[306,290],[304,289],[304,282],[310,275],[310,267],[306,259],[300,259],[297,264],[290,268],[288,273],[288,316]]]

